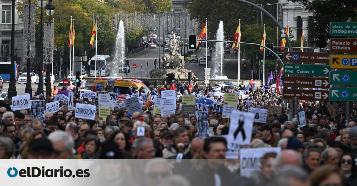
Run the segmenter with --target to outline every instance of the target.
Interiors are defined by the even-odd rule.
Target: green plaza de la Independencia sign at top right
[[[330,22],[331,36],[357,36],[357,22]]]

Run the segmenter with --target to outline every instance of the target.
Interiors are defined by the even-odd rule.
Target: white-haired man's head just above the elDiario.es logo
[[[52,132],[48,139],[51,141],[53,150],[55,152],[55,159],[77,159],[73,156],[74,140],[72,136],[64,131]]]

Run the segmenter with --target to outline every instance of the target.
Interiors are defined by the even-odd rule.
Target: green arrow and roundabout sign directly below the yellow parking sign
[[[331,71],[331,85],[357,85],[357,71]]]

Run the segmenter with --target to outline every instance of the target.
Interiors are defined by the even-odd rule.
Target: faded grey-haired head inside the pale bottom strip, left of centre
[[[171,172],[170,164],[164,159],[153,159],[146,163],[144,169],[144,181],[146,186],[157,186]]]

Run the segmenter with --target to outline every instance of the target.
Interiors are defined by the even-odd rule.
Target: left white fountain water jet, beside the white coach
[[[111,63],[112,75],[114,77],[118,77],[120,75],[120,72],[124,77],[124,55],[125,55],[124,23],[122,20],[120,20],[119,30],[118,33],[116,34],[114,60]]]

